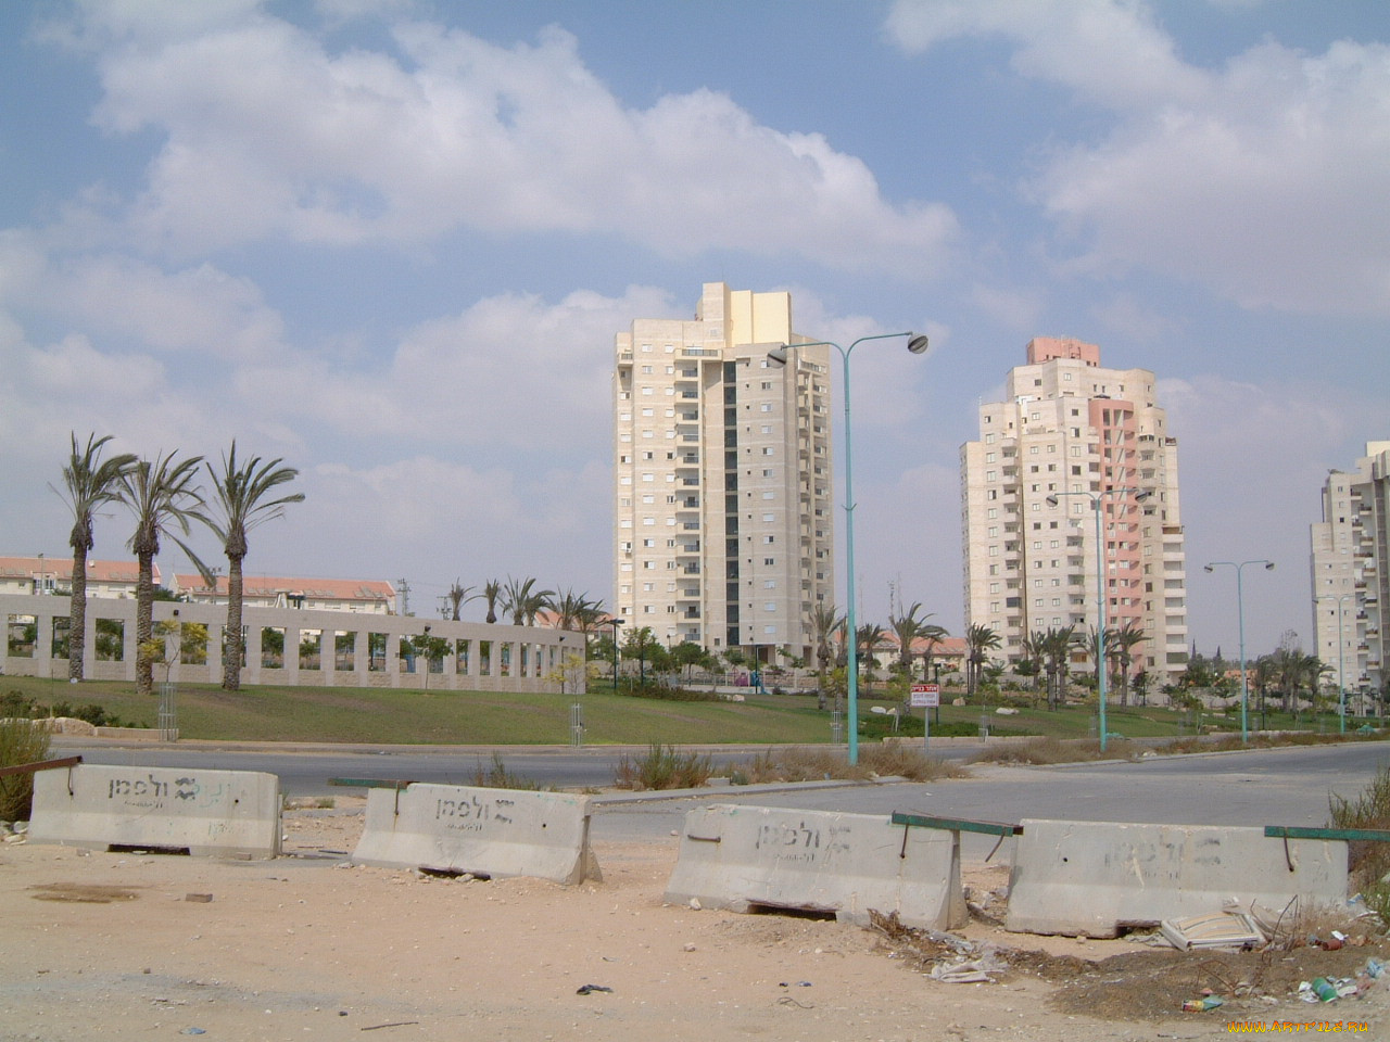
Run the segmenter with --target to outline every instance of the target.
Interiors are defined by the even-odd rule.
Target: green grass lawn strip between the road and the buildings
[[[99,704],[122,724],[156,725],[156,697],[140,697],[128,682],[31,677],[0,678],[0,696],[15,692],[39,706],[71,713]],[[952,693],[947,693],[949,700]],[[381,742],[389,745],[569,745],[573,695],[518,695],[498,692],[439,692],[391,688],[245,688],[224,692],[215,685],[181,684],[178,727],[182,738],[222,741]],[[578,699],[584,706],[587,745],[719,743],[769,746],[830,741],[830,716],[816,710],[805,695],[748,693],[745,702],[669,702],[613,695],[599,689]],[[894,734],[892,718],[873,714],[872,706],[897,703],[860,697],[862,741]],[[1051,713],[1020,709],[1016,716],[997,716],[992,704],[942,706],[933,734],[955,729],[979,734],[984,717],[995,735],[1047,735],[1087,738],[1095,734],[1095,709],[1073,706]],[[1359,727],[1361,721],[1348,724]],[[1227,716],[1204,714],[1204,729],[1240,729],[1238,710]],[[1252,713],[1250,725],[1259,724]],[[1307,714],[1294,721],[1269,714],[1270,728],[1336,731],[1334,717],[1320,721]],[[952,725],[955,725],[952,728]],[[1168,709],[1111,706],[1106,725],[1126,738],[1191,735],[1197,721],[1190,713]],[[922,711],[899,721],[901,735],[922,734]]]

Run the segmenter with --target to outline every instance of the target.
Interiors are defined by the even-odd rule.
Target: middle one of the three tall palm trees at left
[[[183,542],[174,535],[178,528],[188,535],[192,521],[208,522],[203,515],[203,496],[195,483],[202,456],[175,461],[174,453],[157,454],[153,461],[139,460],[121,475],[120,499],[135,514],[135,534],[128,546],[139,561],[135,584],[135,643],[143,646],[153,635],[154,615],[154,554],[160,552],[160,536],[167,535],[197,561]],[[200,568],[202,571],[202,568]],[[145,654],[135,659],[135,690],[154,692],[152,663]]]

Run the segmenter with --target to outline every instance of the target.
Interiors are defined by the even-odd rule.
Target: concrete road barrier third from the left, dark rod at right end
[[[897,911],[910,927],[965,925],[959,834],[876,814],[712,806],[685,816],[666,900],[751,911],[834,913],[867,925]]]

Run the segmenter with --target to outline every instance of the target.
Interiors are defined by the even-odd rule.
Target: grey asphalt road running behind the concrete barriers
[[[468,784],[491,764],[491,750],[309,752],[222,750],[193,746],[111,747],[76,741],[56,754],[88,763],[278,774],[292,796],[342,795],[329,778],[403,778]],[[620,756],[612,749],[503,749],[507,770],[563,788],[607,786]],[[759,750],[720,750],[716,760],[744,760]],[[1151,757],[1140,761],[1059,767],[974,767],[976,777],[926,784],[721,786],[698,796],[631,800],[596,797],[596,839],[655,842],[678,834],[685,811],[708,803],[756,803],[803,810],[891,814],[895,810],[986,821],[1061,818],[1191,825],[1322,825],[1329,795],[1357,796],[1380,768],[1390,742],[1290,746],[1241,753]],[[966,836],[967,857],[983,857],[988,836]]]

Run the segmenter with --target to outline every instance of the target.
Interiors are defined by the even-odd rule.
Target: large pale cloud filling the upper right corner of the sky
[[[1027,186],[1076,243],[1072,267],[1147,268],[1250,308],[1390,314],[1390,47],[1266,42],[1208,72],[1147,6],[1102,0],[902,0],[888,25],[912,51],[1004,36],[1019,72],[1113,114]]]

